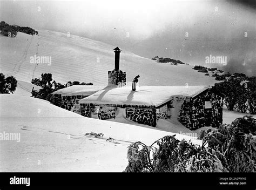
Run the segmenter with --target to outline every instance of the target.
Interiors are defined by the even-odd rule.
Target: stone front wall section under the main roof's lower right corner
[[[126,118],[138,123],[149,125],[152,127],[157,126],[157,114],[156,108],[137,108],[137,107],[126,107]]]

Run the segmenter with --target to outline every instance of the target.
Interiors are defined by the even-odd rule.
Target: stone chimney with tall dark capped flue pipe
[[[126,85],[126,73],[119,70],[120,52],[122,51],[118,47],[114,50],[114,70],[109,71],[109,85],[125,86]]]

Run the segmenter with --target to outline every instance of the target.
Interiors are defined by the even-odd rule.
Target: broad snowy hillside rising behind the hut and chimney
[[[38,32],[39,36],[18,32],[15,38],[0,35],[0,72],[25,82],[41,77],[42,73],[52,73],[53,79],[60,83],[77,80],[107,85],[107,71],[114,69],[112,50],[118,44],[113,46],[47,30]],[[51,65],[31,64],[30,57],[36,53],[38,56],[51,56]],[[191,65],[156,63],[125,50],[120,54],[120,69],[126,71],[127,82],[140,74],[139,84],[142,86],[186,83],[207,86],[216,83],[213,77],[192,70]]]

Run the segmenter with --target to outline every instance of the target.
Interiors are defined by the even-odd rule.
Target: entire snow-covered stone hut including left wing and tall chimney
[[[123,109],[125,118],[156,127],[159,119],[170,119],[190,130],[218,127],[223,121],[223,98],[210,86],[126,85],[126,72],[119,69],[120,52],[115,53],[114,70],[108,71],[107,86],[73,85],[54,92],[65,108],[97,119],[116,118]],[[139,74],[139,73],[138,73]],[[137,76],[139,77],[139,75]]]

